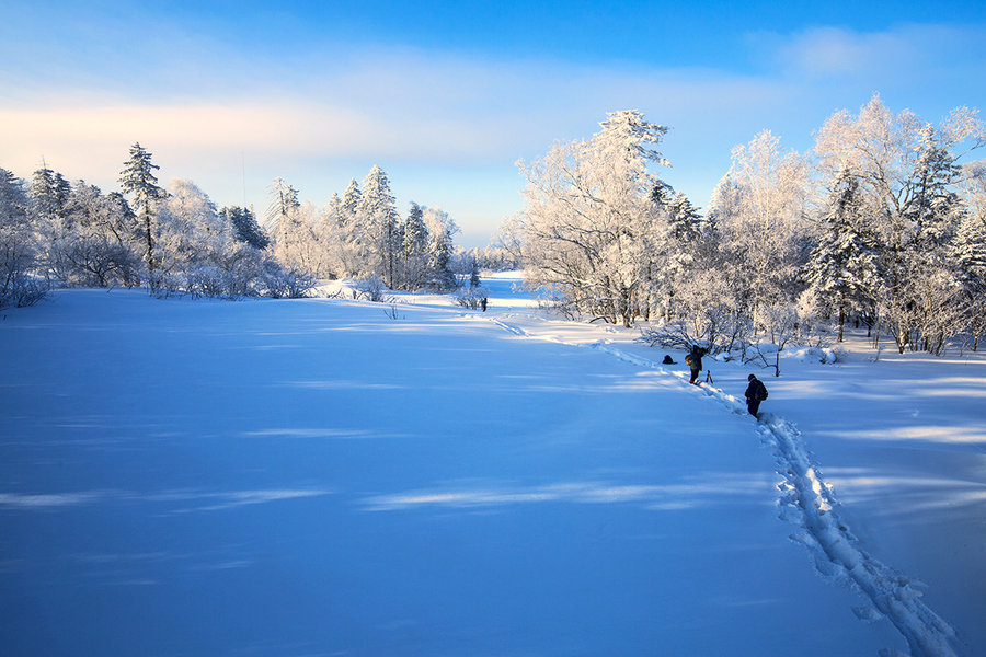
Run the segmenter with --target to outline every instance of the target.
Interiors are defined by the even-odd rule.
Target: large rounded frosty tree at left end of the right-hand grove
[[[588,141],[558,145],[526,165],[520,223],[528,279],[576,311],[629,326],[641,307],[652,242],[654,146],[667,128],[638,111],[614,112]]]

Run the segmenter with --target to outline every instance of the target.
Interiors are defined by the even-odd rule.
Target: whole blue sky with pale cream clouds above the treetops
[[[142,7],[142,4],[152,4]],[[218,205],[284,177],[324,204],[372,164],[399,209],[482,245],[515,166],[606,112],[667,125],[662,176],[704,206],[769,128],[804,151],[879,92],[939,122],[986,107],[984,2],[12,2],[0,0],[0,166],[117,188],[128,148]],[[984,157],[984,155],[978,155]]]

